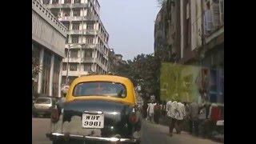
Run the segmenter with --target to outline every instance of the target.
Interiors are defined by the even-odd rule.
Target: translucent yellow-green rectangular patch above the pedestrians
[[[160,74],[161,100],[198,102],[200,72],[198,66],[162,63]]]

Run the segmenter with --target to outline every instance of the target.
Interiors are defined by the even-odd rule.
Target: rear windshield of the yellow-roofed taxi
[[[74,87],[73,95],[126,98],[126,86],[118,82],[81,82]]]

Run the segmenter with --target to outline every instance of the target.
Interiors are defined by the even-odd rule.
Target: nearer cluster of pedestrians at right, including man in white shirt
[[[207,109],[209,108],[209,109]],[[221,110],[218,105],[212,103],[209,107],[206,103],[197,102],[172,102],[166,103],[166,114],[169,118],[170,136],[175,128],[177,134],[181,134],[184,120],[189,122],[190,134],[202,137],[210,137],[211,132],[216,127],[216,122],[220,120]]]

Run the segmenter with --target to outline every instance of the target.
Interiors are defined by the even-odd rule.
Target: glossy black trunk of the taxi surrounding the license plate
[[[75,100],[65,103],[63,123],[70,124],[71,119],[76,117],[76,124],[72,125],[73,127],[69,126],[66,130],[70,132],[72,131],[71,129],[76,127],[74,129],[81,131],[70,133],[94,136],[94,133],[97,133],[98,130],[100,134],[96,136],[110,138],[119,135],[121,138],[130,138],[130,135],[132,134],[132,126],[129,122],[129,116],[132,108],[133,106],[123,102],[96,99]],[[94,113],[95,111],[102,112],[104,115],[104,127],[101,129],[82,128],[82,115],[85,111],[88,113]]]

